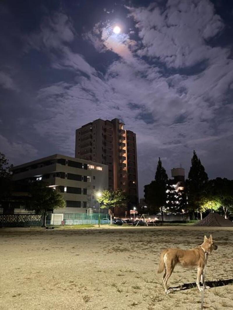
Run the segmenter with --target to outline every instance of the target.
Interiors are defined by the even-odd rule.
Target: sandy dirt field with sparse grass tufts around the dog
[[[185,226],[1,228],[0,309],[200,309],[192,285],[164,294],[158,259],[162,248],[192,248],[210,233],[218,250],[208,260],[205,306],[232,309],[233,228]],[[195,270],[177,266],[168,286],[195,281]]]

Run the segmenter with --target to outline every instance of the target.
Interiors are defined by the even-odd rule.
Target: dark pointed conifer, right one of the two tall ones
[[[208,175],[205,172],[205,168],[201,164],[200,159],[197,157],[196,152],[193,151],[191,167],[188,179],[186,180],[189,210],[193,210],[193,212],[195,210],[201,210],[202,194],[207,182]]]

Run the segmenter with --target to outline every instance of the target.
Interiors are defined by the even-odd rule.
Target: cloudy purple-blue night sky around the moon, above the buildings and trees
[[[232,1],[2,1],[0,151],[74,157],[75,129],[117,117],[137,135],[139,197],[159,156],[187,176],[194,149],[232,179],[232,33]]]

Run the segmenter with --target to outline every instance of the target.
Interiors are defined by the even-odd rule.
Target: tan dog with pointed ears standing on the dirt
[[[191,250],[182,250],[177,248],[168,248],[163,250],[160,254],[158,273],[161,273],[163,270],[165,270],[163,275],[163,286],[165,293],[169,294],[172,291],[172,289],[167,289],[167,280],[171,277],[176,264],[189,269],[197,268],[196,284],[199,291],[202,291],[203,288],[200,287],[200,279],[203,284],[205,253],[207,262],[208,255],[212,252],[212,250],[217,250],[217,246],[212,240],[212,235],[210,235],[209,238],[205,236],[203,243]],[[205,286],[205,288],[209,287]]]

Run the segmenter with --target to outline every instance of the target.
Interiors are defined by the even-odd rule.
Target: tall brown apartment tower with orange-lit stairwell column
[[[75,157],[108,165],[110,189],[122,189],[138,204],[136,135],[119,119],[97,119],[76,130]]]

